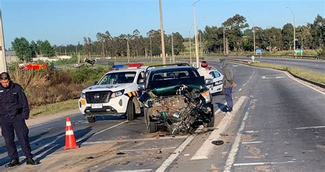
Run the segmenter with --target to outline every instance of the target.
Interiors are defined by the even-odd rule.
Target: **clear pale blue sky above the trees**
[[[0,0],[5,47],[16,37],[49,40],[53,45],[83,42],[85,36],[96,40],[98,32],[112,36],[132,34],[138,29],[145,36],[150,29],[160,29],[158,0]],[[193,3],[190,0],[162,0],[166,34],[180,32],[184,38],[194,33]],[[262,28],[313,23],[324,15],[324,0],[200,0],[195,3],[199,29],[221,26],[234,14],[246,17]]]

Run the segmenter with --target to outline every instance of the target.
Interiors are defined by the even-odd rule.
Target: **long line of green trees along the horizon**
[[[230,17],[221,27],[206,26],[199,30],[202,36],[202,51],[206,53],[222,53],[224,42],[229,51],[253,51],[254,31],[256,48],[264,51],[280,51],[293,49],[293,25],[287,23],[282,28],[271,27],[263,29],[258,26],[249,26],[246,18],[240,14]],[[165,51],[171,54],[171,42],[175,55],[184,54],[187,51],[183,42],[184,38],[179,32],[164,34]],[[172,39],[172,38],[173,39]],[[194,37],[194,36],[193,36]],[[20,60],[29,61],[37,56],[53,57],[81,53],[92,56],[160,56],[160,29],[151,29],[146,36],[141,35],[138,29],[132,34],[111,36],[109,31],[98,32],[96,40],[84,37],[82,43],[77,45],[51,45],[48,40],[32,40],[15,38],[12,48]],[[193,38],[191,38],[193,40]],[[296,27],[296,49],[320,49],[324,46],[325,19],[318,14],[313,23],[307,23]],[[194,41],[192,41],[194,42]]]

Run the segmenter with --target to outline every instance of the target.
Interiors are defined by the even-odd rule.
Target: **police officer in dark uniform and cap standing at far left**
[[[36,164],[34,162],[32,149],[28,140],[28,127],[25,119],[29,118],[29,106],[23,88],[10,80],[8,73],[0,74],[0,125],[1,134],[5,138],[8,156],[11,161],[5,167],[19,165],[19,156],[14,143],[14,133],[19,140],[21,149],[25,152],[26,164]]]

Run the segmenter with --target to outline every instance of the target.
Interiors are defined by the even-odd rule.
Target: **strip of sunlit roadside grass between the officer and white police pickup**
[[[43,116],[47,114],[56,114],[67,110],[78,108],[78,99],[71,99],[59,103],[51,103],[44,106],[32,107],[30,116]]]

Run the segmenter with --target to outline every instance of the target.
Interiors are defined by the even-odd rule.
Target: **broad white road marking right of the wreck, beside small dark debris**
[[[238,99],[237,103],[234,105],[234,114],[236,114],[239,109],[241,108],[241,105],[243,102],[245,102],[248,99],[247,96],[242,96]],[[235,115],[226,115],[224,119],[219,123],[219,125],[216,128],[219,128],[219,130],[214,130],[210,136],[204,141],[203,145],[195,152],[194,156],[191,158],[191,160],[202,160],[202,159],[208,159],[208,156],[210,155],[211,151],[213,151],[213,148],[215,145],[213,145],[211,142],[213,140],[219,140],[221,138],[220,134],[224,133],[228,127],[230,126],[230,122],[234,118]]]

